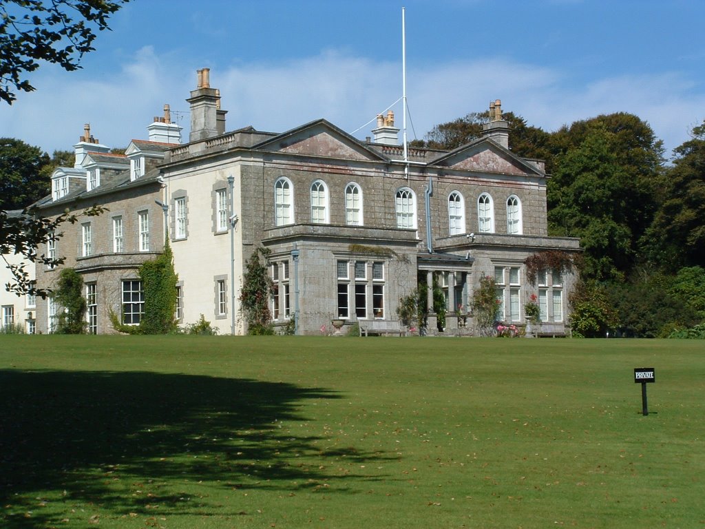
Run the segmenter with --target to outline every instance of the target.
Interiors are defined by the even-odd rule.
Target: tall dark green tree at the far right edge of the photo
[[[651,261],[671,272],[705,264],[705,121],[674,152],[663,201],[644,240]]]

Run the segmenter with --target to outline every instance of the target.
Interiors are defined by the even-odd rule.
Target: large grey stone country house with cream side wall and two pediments
[[[400,297],[422,281],[443,289],[448,309],[444,325],[431,310],[429,334],[472,334],[467,308],[479,279],[489,275],[498,279],[503,320],[525,323],[523,305],[537,293],[544,320],[565,332],[575,276],[532,285],[525,262],[544,250],[578,252],[578,241],[548,237],[544,166],[508,148],[499,102],[483,138],[452,152],[410,149],[407,159],[395,145],[391,113],[378,117],[367,142],[322,119],[281,134],[252,127],[223,133],[226,111],[207,70],[199,71],[188,102],[190,142],[133,140],[122,177],[90,192],[74,186],[66,197],[40,204],[48,215],[67,205],[109,208],[67,226],[57,245],[66,266],[97,286],[94,331],[111,332],[107,315],[121,310],[122,282],[136,279],[139,265],[161,251],[166,226],[183,324],[203,315],[221,334],[247,332],[240,287],[247,260],[262,247],[269,250],[272,317],[280,331],[294,317],[299,334],[329,334],[333,320],[346,326],[398,320]],[[170,138],[169,126],[165,114],[150,127]],[[90,145],[83,141],[80,149]],[[90,159],[112,162],[112,169],[116,163]],[[80,170],[77,162],[64,172],[80,178]],[[140,248],[140,212],[149,213],[148,249]],[[123,219],[121,252],[114,248],[114,217]],[[94,234],[87,256],[85,223]],[[51,285],[57,273],[38,270],[40,286]],[[48,330],[46,306],[37,317]]]

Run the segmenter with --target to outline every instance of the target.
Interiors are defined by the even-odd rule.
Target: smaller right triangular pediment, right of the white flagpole
[[[515,174],[517,176],[543,175],[543,172],[536,166],[525,162],[510,150],[488,139],[475,140],[467,145],[462,145],[462,147],[436,159],[434,165],[483,173]]]

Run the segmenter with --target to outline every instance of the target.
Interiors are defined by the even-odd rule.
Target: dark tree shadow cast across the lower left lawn
[[[37,505],[35,492],[48,491],[61,495],[60,501],[113,513],[149,504],[192,511],[196,505],[183,502],[180,482],[293,490],[324,480],[374,479],[326,475],[318,465],[293,461],[299,455],[319,461],[341,456],[326,452],[321,438],[292,437],[281,424],[307,420],[298,413],[306,399],[337,398],[325,389],[247,379],[0,370],[1,505],[17,513]],[[344,456],[385,458],[355,449]],[[18,505],[22,501],[30,504]],[[56,523],[42,519],[41,509],[31,519],[11,518],[17,527]]]

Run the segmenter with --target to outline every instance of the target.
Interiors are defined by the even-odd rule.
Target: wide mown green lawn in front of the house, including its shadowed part
[[[8,528],[705,527],[701,341],[0,336],[0,408]]]

